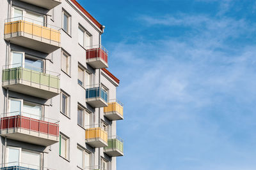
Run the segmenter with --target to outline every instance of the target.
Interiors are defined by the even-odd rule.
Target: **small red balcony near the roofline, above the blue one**
[[[102,45],[88,46],[86,50],[86,62],[94,69],[108,67],[108,50]]]

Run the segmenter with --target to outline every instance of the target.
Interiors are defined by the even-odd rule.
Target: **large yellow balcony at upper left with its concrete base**
[[[52,53],[61,47],[60,38],[60,29],[49,24],[26,17],[5,20],[4,39],[16,45]]]

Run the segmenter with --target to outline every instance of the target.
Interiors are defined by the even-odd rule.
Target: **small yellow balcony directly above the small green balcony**
[[[109,100],[109,101],[112,101],[112,102],[108,103],[107,107],[104,107],[105,117],[107,117],[109,120],[123,120],[124,105],[116,100]]]

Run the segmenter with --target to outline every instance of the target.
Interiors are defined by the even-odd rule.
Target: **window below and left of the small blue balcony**
[[[90,125],[90,113],[81,106],[77,107],[77,124],[81,125],[81,127]]]

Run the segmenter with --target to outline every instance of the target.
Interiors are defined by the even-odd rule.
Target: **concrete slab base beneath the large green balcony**
[[[29,96],[40,97],[42,99],[51,99],[60,94],[60,89],[52,88],[46,85],[40,85],[26,80],[4,81],[2,86],[5,89],[27,94]]]

